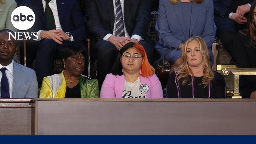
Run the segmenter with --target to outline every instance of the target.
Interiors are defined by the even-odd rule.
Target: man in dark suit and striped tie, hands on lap
[[[121,12],[121,8],[118,10],[116,7],[120,4]],[[123,16],[123,21],[120,21],[124,25],[123,35],[119,35],[119,26],[116,26],[119,22],[116,13],[119,12]],[[140,43],[146,50],[149,62],[153,63],[154,47],[149,43],[147,35],[149,16],[150,4],[147,0],[85,1],[87,26],[97,40],[94,51],[97,57],[99,85],[103,83],[106,74],[111,72],[118,51],[128,42]]]

